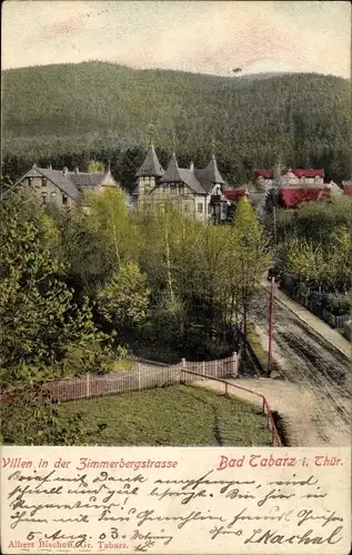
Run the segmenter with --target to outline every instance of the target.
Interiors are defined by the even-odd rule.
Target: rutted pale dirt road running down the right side
[[[268,313],[269,295],[262,291],[253,302],[251,319],[265,350]],[[273,357],[284,382],[279,385],[273,380],[265,385],[268,398],[283,417],[290,415],[291,444],[350,445],[351,362],[279,300]]]

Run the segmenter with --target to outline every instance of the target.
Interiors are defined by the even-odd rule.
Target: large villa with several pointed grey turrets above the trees
[[[139,209],[160,206],[169,201],[181,212],[198,220],[213,220],[218,223],[227,219],[228,200],[223,195],[227,188],[214,154],[204,169],[180,168],[173,152],[167,170],[158,160],[153,144],[135,173],[134,203]]]

